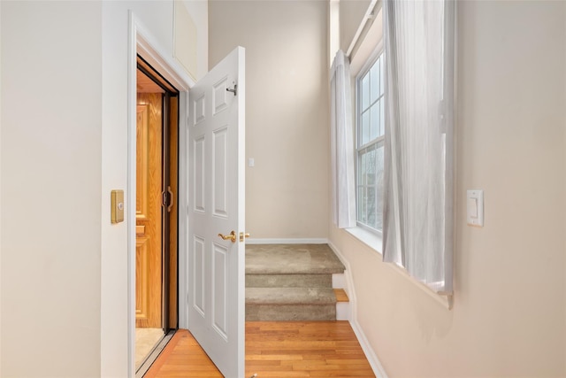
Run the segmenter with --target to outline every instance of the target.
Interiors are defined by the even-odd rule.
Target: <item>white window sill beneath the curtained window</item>
[[[376,251],[380,255],[382,255],[381,249],[382,249],[383,239],[381,235],[374,234],[365,228],[359,228],[359,227],[345,228],[345,231],[348,232],[348,234],[354,236],[360,242],[370,247],[371,250]],[[397,264],[393,264],[393,263],[386,263],[386,265],[391,266],[392,269],[394,269],[396,272],[398,272],[407,280],[409,280],[409,282],[412,282],[417,288],[421,289],[429,297],[432,297],[432,299],[434,299],[434,301],[436,301],[438,304],[442,305],[447,310],[452,309],[452,305],[453,305],[452,295],[442,294],[434,291],[428,285],[418,281],[414,277],[411,277],[409,272],[407,272],[407,270],[402,266],[398,266]]]

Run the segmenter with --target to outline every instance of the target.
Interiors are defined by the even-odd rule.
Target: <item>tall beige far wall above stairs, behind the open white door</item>
[[[327,3],[209,3],[210,66],[246,48],[246,230],[327,237]]]

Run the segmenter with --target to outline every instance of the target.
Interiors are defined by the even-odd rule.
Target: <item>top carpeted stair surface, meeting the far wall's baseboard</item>
[[[246,245],[246,274],[338,274],[344,270],[328,244]]]

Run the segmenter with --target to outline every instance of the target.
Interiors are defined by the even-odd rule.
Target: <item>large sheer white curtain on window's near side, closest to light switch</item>
[[[383,258],[452,293],[455,3],[386,0]]]

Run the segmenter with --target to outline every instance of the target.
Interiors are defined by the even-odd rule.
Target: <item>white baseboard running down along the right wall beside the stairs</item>
[[[363,329],[360,327],[359,323],[357,322],[356,290],[354,289],[354,281],[352,279],[352,274],[351,274],[352,270],[350,269],[348,260],[344,258],[340,250],[338,250],[338,248],[336,248],[336,246],[332,242],[328,241],[327,243],[330,246],[330,248],[334,251],[336,256],[340,258],[342,264],[346,266],[345,286],[346,286],[346,293],[348,294],[348,299],[349,299],[350,325],[352,326],[352,329],[356,334],[358,342],[362,346],[363,353],[365,353],[365,357],[366,359],[368,359],[368,362],[370,363],[371,369],[373,370],[375,376],[377,378],[387,378],[386,371],[381,365],[381,362],[379,362],[377,354],[375,354],[375,351],[373,351],[373,348],[371,348],[370,342],[368,342],[367,337],[363,333]]]

